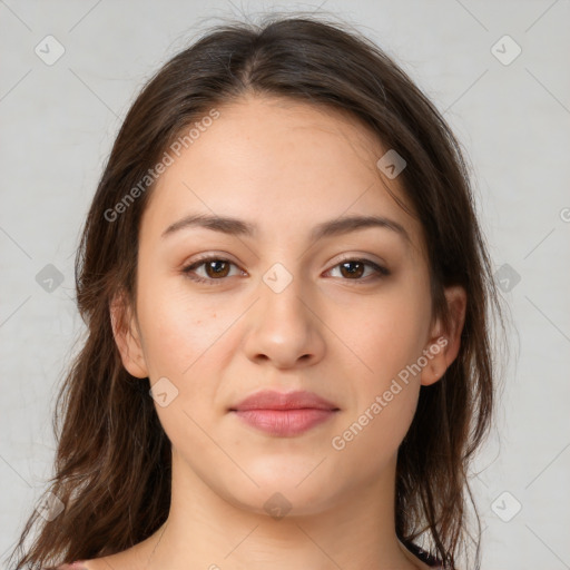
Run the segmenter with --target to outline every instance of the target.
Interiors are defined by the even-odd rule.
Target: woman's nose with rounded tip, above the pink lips
[[[326,348],[316,302],[303,289],[301,278],[294,277],[282,291],[267,283],[259,283],[261,298],[246,314],[247,357],[276,368],[316,364]]]

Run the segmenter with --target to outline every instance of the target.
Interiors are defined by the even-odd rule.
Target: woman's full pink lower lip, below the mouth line
[[[249,425],[271,435],[291,436],[304,433],[330,420],[334,410],[304,407],[301,410],[235,410],[235,414]]]

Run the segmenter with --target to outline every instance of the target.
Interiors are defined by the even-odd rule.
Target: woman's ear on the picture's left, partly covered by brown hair
[[[148,370],[140,342],[140,331],[126,295],[118,293],[114,296],[109,305],[109,313],[112,335],[119,348],[122,365],[132,376],[147,377]]]

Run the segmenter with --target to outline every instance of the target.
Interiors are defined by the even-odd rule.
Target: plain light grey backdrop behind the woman
[[[120,122],[204,28],[267,10],[354,24],[465,148],[512,321],[498,423],[472,481],[483,569],[569,569],[568,0],[0,0],[2,560],[51,475],[55,394],[81,326],[73,255]]]

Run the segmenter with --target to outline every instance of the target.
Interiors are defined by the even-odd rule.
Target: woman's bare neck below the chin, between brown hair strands
[[[287,510],[282,497],[292,507],[279,518],[278,510],[266,507],[272,515],[263,508],[274,490],[257,490],[261,500],[252,502],[258,508],[237,504],[225,490],[206,485],[174,453],[170,512],[145,541],[140,559],[148,570],[420,568],[395,534],[394,481],[395,458],[375,481],[361,481],[321,505],[313,502],[311,512],[295,509],[303,504],[298,489],[274,497],[269,505],[281,507],[282,513]]]

